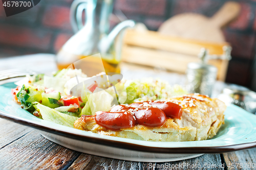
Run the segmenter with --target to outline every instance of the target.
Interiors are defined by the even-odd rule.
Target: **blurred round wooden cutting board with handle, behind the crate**
[[[226,2],[212,17],[183,13],[166,20],[159,28],[161,34],[209,42],[224,42],[221,28],[235,19],[240,12],[236,2]]]

